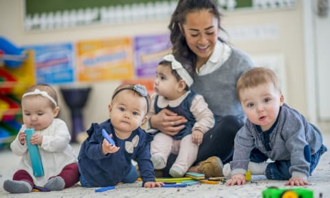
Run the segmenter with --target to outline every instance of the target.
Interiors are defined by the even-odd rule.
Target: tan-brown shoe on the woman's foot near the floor
[[[197,170],[205,175],[206,178],[222,177],[223,162],[217,156],[212,156],[199,162]]]

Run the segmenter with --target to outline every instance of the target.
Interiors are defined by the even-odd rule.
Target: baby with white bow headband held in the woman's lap
[[[151,160],[155,169],[164,169],[168,156],[177,154],[175,163],[170,167],[170,175],[182,177],[196,160],[203,135],[214,126],[214,115],[207,107],[203,96],[190,90],[194,83],[192,76],[172,55],[166,55],[157,66],[153,83],[155,94],[151,97],[152,116],[165,109],[169,115],[186,117],[186,124],[177,133],[161,132],[147,124],[147,132],[155,132],[151,142]],[[177,123],[170,122],[172,126]]]

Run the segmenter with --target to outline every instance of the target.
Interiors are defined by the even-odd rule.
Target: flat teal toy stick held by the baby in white
[[[25,130],[26,133],[26,141],[27,141],[27,149],[29,150],[32,169],[34,170],[34,175],[36,177],[40,177],[44,175],[44,168],[42,167],[42,161],[38,149],[38,145],[31,145],[30,140],[31,136],[34,134],[34,128],[27,128]]]

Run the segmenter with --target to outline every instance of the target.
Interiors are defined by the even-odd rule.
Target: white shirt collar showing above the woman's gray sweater
[[[231,48],[227,44],[218,40],[216,42],[216,46],[214,46],[214,51],[210,56],[210,59],[208,59],[207,62],[199,68],[199,70],[196,68],[196,74],[203,76],[214,72],[220,68],[225,61],[227,61],[230,55]]]

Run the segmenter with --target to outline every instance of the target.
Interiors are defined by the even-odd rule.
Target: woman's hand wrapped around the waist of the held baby
[[[185,128],[184,123],[188,122],[186,117],[177,115],[168,109],[162,109],[160,113],[151,116],[150,120],[151,128],[157,128],[164,132],[166,135],[177,135],[177,133]]]

